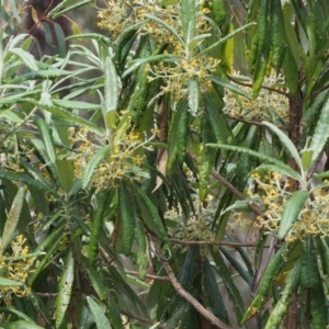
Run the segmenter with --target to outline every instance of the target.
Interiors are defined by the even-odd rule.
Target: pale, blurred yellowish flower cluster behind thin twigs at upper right
[[[238,72],[232,72],[232,78],[239,79],[238,76]],[[241,82],[251,83],[251,80],[246,81],[245,79]],[[270,76],[265,77],[263,86],[272,89],[280,89],[284,84],[283,82],[283,77],[281,75],[276,76],[275,71],[272,70]],[[239,84],[237,84],[237,87],[251,95],[250,87]],[[284,94],[277,93],[273,90],[262,88],[257,99],[250,100],[242,95],[239,97],[226,88],[224,101],[224,113],[235,118],[272,122],[274,115],[286,122],[288,121],[288,99]]]

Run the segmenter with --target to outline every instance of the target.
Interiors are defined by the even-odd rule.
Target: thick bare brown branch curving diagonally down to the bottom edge
[[[205,319],[207,319],[211,324],[214,325],[215,328],[218,329],[231,329],[225,322],[215,317],[209,310],[207,310],[200,302],[197,302],[190,293],[188,293],[179,283],[177,277],[174,276],[170,264],[168,263],[162,250],[154,243],[156,253],[160,259],[164,271],[167,272],[168,279],[177,293],[181,295],[188,303],[190,303]]]

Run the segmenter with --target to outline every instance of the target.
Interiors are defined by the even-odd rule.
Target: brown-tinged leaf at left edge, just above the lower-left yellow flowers
[[[0,241],[0,256],[3,254],[7,247],[10,245],[10,242],[13,239],[13,235],[19,224],[21,212],[23,208],[23,202],[24,202],[24,190],[23,188],[21,188],[19,189],[12,202],[10,212],[7,216],[7,220],[3,227],[2,238]]]

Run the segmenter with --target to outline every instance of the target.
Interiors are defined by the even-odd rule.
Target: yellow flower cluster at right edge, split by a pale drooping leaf
[[[268,172],[263,177],[251,175],[254,185],[250,185],[249,202],[262,208],[265,217],[258,217],[254,226],[264,228],[269,234],[276,235],[282,218],[283,208],[292,195],[288,180],[280,173]],[[257,185],[257,193],[254,186]],[[293,242],[308,236],[325,237],[329,234],[329,194],[324,189],[315,190],[313,197],[307,200],[300,209],[285,240]]]

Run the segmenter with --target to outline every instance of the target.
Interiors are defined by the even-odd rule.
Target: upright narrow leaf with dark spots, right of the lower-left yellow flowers
[[[75,259],[72,251],[69,250],[66,257],[64,271],[59,282],[59,292],[56,298],[56,322],[55,327],[60,328],[65,314],[71,300],[72,284],[75,280]]]

